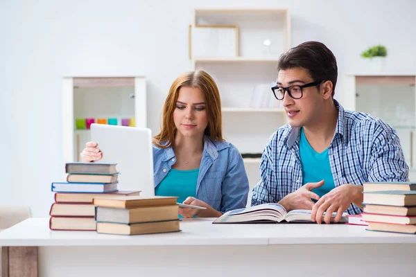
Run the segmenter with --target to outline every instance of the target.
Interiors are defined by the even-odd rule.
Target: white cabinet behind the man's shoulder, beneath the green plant
[[[416,73],[346,75],[348,109],[381,118],[397,131],[406,163],[416,169]],[[415,175],[415,174],[413,174]],[[410,181],[416,175],[410,175]]]

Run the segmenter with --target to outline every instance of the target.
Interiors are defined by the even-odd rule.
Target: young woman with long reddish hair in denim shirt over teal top
[[[162,130],[153,138],[155,195],[206,210],[180,208],[184,217],[219,217],[243,208],[248,178],[234,145],[224,141],[220,94],[205,71],[191,71],[173,82],[162,111]],[[98,161],[101,150],[89,142],[83,161]]]

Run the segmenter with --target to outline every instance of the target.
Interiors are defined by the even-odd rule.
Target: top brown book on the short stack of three
[[[100,207],[109,208],[139,208],[149,206],[168,206],[175,205],[178,197],[165,196],[125,196],[125,197],[94,197],[93,204]]]

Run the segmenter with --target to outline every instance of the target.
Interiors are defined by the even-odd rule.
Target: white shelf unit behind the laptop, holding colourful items
[[[64,77],[62,80],[62,147],[64,163],[80,161],[90,141],[89,129],[77,129],[77,118],[135,118],[135,127],[147,126],[146,78]],[[108,121],[107,121],[108,123]]]

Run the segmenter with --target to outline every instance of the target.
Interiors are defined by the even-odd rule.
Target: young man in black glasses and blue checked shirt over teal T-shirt
[[[278,202],[286,210],[312,210],[329,223],[336,212],[361,213],[363,183],[406,181],[408,166],[395,129],[379,118],[346,111],[333,99],[338,67],[320,42],[304,42],[281,55],[272,87],[289,124],[272,134],[261,157],[252,206]]]

